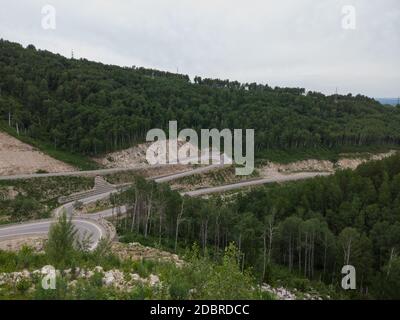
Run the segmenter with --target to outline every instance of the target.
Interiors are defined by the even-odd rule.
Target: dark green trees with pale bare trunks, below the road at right
[[[341,268],[351,264],[357,290],[350,295],[400,298],[400,155],[225,200],[182,198],[138,177],[113,203],[128,204],[126,217],[115,212],[122,241],[175,250],[197,242],[216,259],[234,242],[240,265],[260,281],[275,278],[279,265],[339,291]]]

